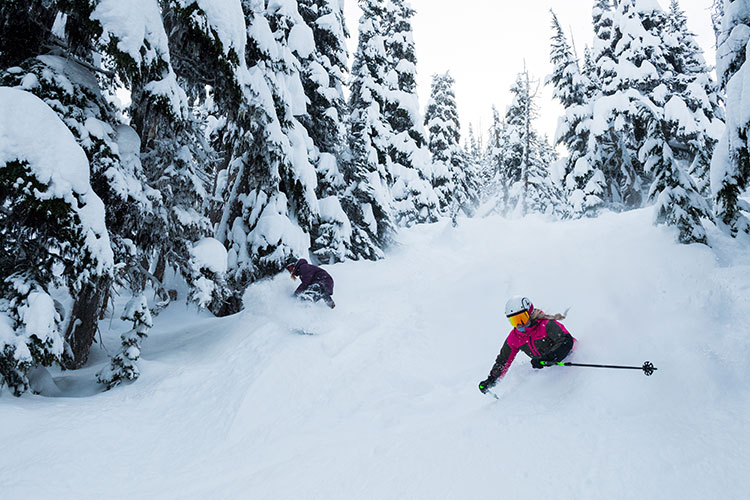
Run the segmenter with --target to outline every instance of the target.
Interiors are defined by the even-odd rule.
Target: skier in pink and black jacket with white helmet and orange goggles
[[[544,314],[541,309],[534,309],[527,297],[511,297],[505,304],[505,315],[513,330],[505,339],[489,377],[479,383],[479,390],[484,394],[505,375],[518,351],[531,358],[534,368],[544,368],[546,365],[542,361],[562,361],[576,342],[559,322],[565,319],[564,314]]]

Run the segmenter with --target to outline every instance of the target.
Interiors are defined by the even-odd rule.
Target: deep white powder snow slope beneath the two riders
[[[0,497],[747,498],[750,245],[677,245],[650,217],[418,227],[331,266],[333,311],[293,302],[288,275],[234,317],[172,305],[135,384],[96,393],[95,346],[54,374],[63,397],[3,392]],[[482,395],[517,293],[571,306],[575,361],[658,371],[520,354]]]

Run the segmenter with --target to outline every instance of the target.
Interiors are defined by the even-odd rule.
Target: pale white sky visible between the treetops
[[[659,4],[666,10],[669,0],[659,0]],[[419,102],[423,110],[432,74],[450,70],[456,79],[463,142],[469,123],[477,134],[480,124],[482,131],[489,127],[493,104],[504,113],[510,103],[509,89],[525,61],[532,76],[540,81],[537,129],[553,139],[562,108],[552,100],[552,88],[542,85],[552,70],[549,10],[555,10],[561,26],[568,32],[568,41],[572,32],[582,55],[583,47],[590,45],[594,36],[593,0],[411,0],[411,5],[417,11],[413,27]],[[687,14],[688,26],[698,35],[706,60],[713,64],[711,0],[681,0],[680,5]],[[353,57],[361,15],[356,0],[345,0],[345,15]]]

